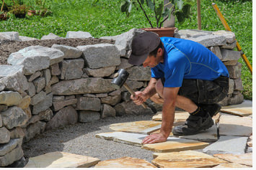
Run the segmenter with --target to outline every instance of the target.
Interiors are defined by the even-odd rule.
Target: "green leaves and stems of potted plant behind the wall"
[[[144,9],[145,7],[145,1],[146,6],[153,11],[153,13],[150,11],[146,11]],[[172,7],[164,8],[164,1],[156,1],[156,0],[125,0],[121,4],[120,8],[122,12],[126,13],[126,16],[130,16],[131,11],[133,9],[133,6],[136,6],[144,12],[144,16],[146,16],[147,21],[151,25],[151,28],[153,27],[153,24],[151,24],[151,20],[149,19],[149,14],[153,14],[153,17],[156,19],[156,28],[161,28],[162,24],[165,20],[170,18],[172,15],[177,17],[177,21],[182,24],[185,22],[185,19],[190,18],[190,9],[193,5],[193,0],[169,0],[168,4],[173,4]],[[167,5],[167,4],[166,4]],[[147,14],[147,12],[149,14]]]

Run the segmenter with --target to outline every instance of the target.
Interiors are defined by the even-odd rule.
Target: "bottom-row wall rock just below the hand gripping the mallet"
[[[150,108],[143,108],[141,105],[136,105],[133,101],[119,103],[115,105],[116,115],[148,115],[154,114]]]

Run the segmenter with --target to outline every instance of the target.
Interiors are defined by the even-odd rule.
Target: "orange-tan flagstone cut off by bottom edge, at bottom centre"
[[[156,166],[144,159],[122,157],[120,159],[100,161],[94,168],[156,168]]]

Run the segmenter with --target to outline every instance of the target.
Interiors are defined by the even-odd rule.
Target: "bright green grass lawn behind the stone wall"
[[[40,6],[36,5],[35,1],[28,0],[25,4],[32,6],[33,9],[39,9]],[[201,0],[202,29],[206,31],[224,30],[211,6],[213,2],[219,6],[252,65],[252,0]],[[92,4],[92,0],[47,0],[46,6],[53,11],[52,16],[27,16],[25,19],[16,19],[12,16],[9,20],[0,22],[0,32],[19,32],[20,35],[40,39],[50,32],[66,37],[68,31],[84,31],[98,38],[121,34],[132,28],[150,27],[142,11],[134,10],[126,19],[125,14],[119,9],[120,0],[100,0],[98,4]],[[187,19],[182,25],[177,23],[175,27],[197,29],[196,4],[192,8],[192,13],[191,20]],[[152,22],[154,23],[154,19]],[[252,100],[252,75],[242,58],[239,62],[243,64],[244,98]]]

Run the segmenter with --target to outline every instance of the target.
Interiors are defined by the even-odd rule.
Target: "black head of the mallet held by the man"
[[[126,70],[120,69],[117,73],[115,73],[114,79],[112,80],[111,84],[115,89],[120,89],[127,80],[128,76],[129,73]]]

